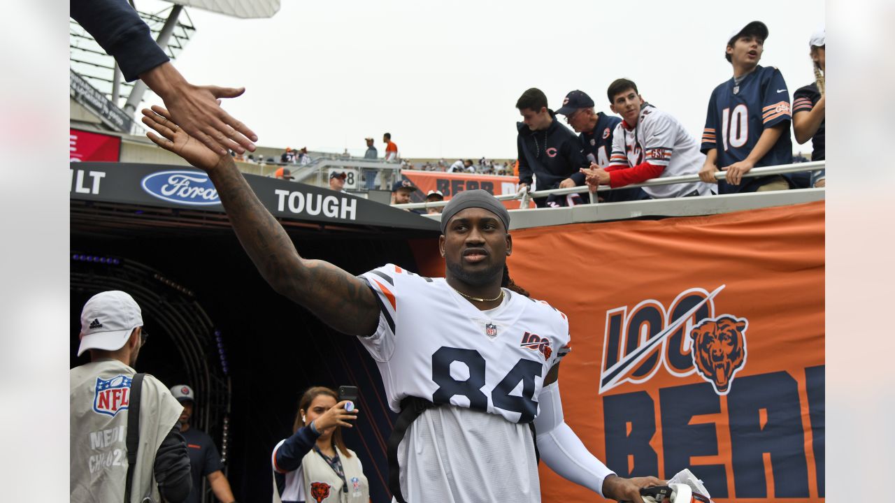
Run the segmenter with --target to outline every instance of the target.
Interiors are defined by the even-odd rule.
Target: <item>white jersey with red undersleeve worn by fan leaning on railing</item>
[[[705,155],[678,119],[646,104],[635,128],[627,129],[624,122],[616,126],[609,166],[633,167],[644,162],[665,166],[660,178],[696,175],[705,163]],[[653,199],[680,197],[694,191],[708,194],[711,185],[697,181],[644,187]]]

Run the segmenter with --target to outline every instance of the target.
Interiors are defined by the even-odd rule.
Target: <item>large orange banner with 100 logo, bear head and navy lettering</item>
[[[823,501],[823,218],[821,201],[513,232],[511,277],[570,320],[559,384],[584,445],[620,476],[688,468],[719,503]],[[543,501],[599,500],[540,470]]]

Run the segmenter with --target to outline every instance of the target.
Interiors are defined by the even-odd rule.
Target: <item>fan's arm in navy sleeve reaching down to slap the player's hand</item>
[[[72,0],[69,15],[121,67],[125,81],[140,79],[158,94],[177,124],[218,154],[255,150],[258,136],[227,114],[219,98],[236,98],[245,88],[196,86],[186,81],[126,0]]]

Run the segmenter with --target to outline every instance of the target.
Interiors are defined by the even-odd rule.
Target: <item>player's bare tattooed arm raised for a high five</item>
[[[307,260],[295,251],[277,219],[261,204],[229,155],[218,156],[171,122],[162,107],[143,110],[149,139],[209,174],[236,236],[251,261],[279,294],[303,305],[330,327],[369,336],[379,323],[379,304],[360,279],[323,260]]]

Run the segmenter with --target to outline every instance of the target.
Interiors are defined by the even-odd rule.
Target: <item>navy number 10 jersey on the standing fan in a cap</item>
[[[700,149],[703,153],[717,149],[716,166],[724,168],[745,160],[764,130],[785,123],[780,138],[754,167],[789,164],[791,121],[789,91],[783,75],[776,67],[758,65],[753,72],[731,78],[712,91]],[[720,181],[718,190],[720,194],[754,192],[755,185],[761,184],[755,178],[746,178],[739,185]]]

